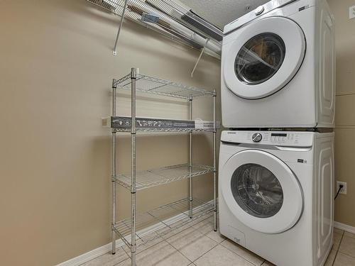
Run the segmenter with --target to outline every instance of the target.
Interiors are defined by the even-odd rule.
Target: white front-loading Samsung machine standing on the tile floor
[[[278,266],[324,265],[332,248],[334,133],[223,131],[222,235]]]

